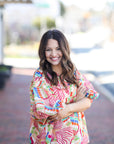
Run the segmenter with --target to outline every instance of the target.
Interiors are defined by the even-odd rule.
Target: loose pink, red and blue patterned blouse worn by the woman
[[[79,85],[88,88],[85,97],[90,98],[91,102],[98,98],[99,94],[85,76],[78,70],[74,75]],[[56,122],[47,119],[63,109],[65,104],[76,101],[77,86],[65,81],[66,89],[60,82],[59,76],[58,81],[57,86],[51,85],[40,68],[33,75],[30,87],[30,144],[87,144],[89,136],[84,112],[74,112]]]

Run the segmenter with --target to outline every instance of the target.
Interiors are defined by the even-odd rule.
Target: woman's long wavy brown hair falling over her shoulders
[[[48,30],[41,38],[39,45],[39,57],[40,57],[40,69],[43,70],[45,77],[51,82],[52,85],[58,84],[57,74],[52,70],[51,64],[46,60],[45,50],[49,39],[54,39],[58,42],[61,52],[63,54],[61,60],[62,74],[60,80],[66,87],[64,80],[70,84],[76,84],[78,86],[76,77],[74,75],[74,65],[70,59],[70,48],[68,41],[64,34],[59,30]],[[50,77],[51,75],[51,77]]]

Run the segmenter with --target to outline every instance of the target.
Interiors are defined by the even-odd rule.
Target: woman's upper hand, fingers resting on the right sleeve
[[[86,92],[87,92],[87,88],[84,87],[84,86],[80,86],[78,89],[77,89],[77,101],[84,98],[85,95],[86,95]]]

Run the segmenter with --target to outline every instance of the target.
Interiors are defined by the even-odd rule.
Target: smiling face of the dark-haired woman
[[[61,59],[62,59],[62,51],[59,47],[58,41],[55,39],[49,39],[47,42],[46,50],[45,50],[45,56],[46,60],[52,65],[53,67],[58,67],[61,65]]]

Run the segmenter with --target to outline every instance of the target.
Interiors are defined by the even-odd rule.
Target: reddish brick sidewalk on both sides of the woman
[[[29,86],[33,69],[13,70],[0,91],[0,144],[28,144]],[[85,112],[90,144],[114,143],[114,104],[103,95]]]

